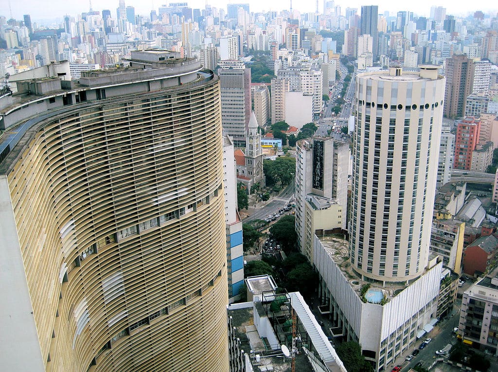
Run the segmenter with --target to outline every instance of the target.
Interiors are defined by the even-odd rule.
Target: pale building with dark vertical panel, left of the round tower
[[[296,143],[296,232],[298,247],[310,262],[317,230],[346,229],[349,157],[347,142],[332,138]]]

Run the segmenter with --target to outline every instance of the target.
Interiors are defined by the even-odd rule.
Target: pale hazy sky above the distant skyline
[[[156,9],[161,4],[167,4],[168,0],[125,0],[126,6],[131,5],[135,7],[135,14],[148,15],[151,9]],[[173,1],[171,1],[173,2]],[[180,2],[180,0],[175,0]],[[223,7],[226,10],[226,0],[190,0],[187,1],[192,8],[204,8],[206,3],[215,6]],[[290,0],[282,1],[265,1],[265,0],[242,0],[230,1],[231,3],[249,3],[250,11],[260,10],[282,10],[290,8]],[[116,17],[116,8],[118,7],[119,0],[93,0],[92,7],[94,10],[101,11],[102,9],[110,9],[113,17]],[[446,7],[446,14],[466,15],[475,10],[482,10],[485,13],[491,12],[496,15],[498,11],[498,4],[494,0],[481,0],[476,2],[463,1],[463,0],[439,0],[435,3],[434,0],[417,0],[408,2],[411,5],[402,5],[399,0],[382,0],[378,1],[379,12],[389,10],[391,13],[397,10],[410,10],[419,15],[428,16],[432,5]],[[12,16],[15,19],[22,19],[23,14],[30,14],[31,20],[36,21],[39,19],[55,19],[62,18],[65,14],[76,15],[78,13],[88,11],[90,8],[90,1],[85,0],[0,0],[0,15],[10,18],[8,5],[10,4]],[[268,5],[270,4],[270,6]],[[336,5],[341,5],[343,14],[346,7],[360,7],[361,5],[371,5],[375,2],[361,1],[361,0],[337,0]],[[414,5],[416,4],[416,6]],[[314,11],[316,1],[309,0],[293,0],[292,7],[301,12]],[[323,11],[323,0],[318,1],[318,9]]]

